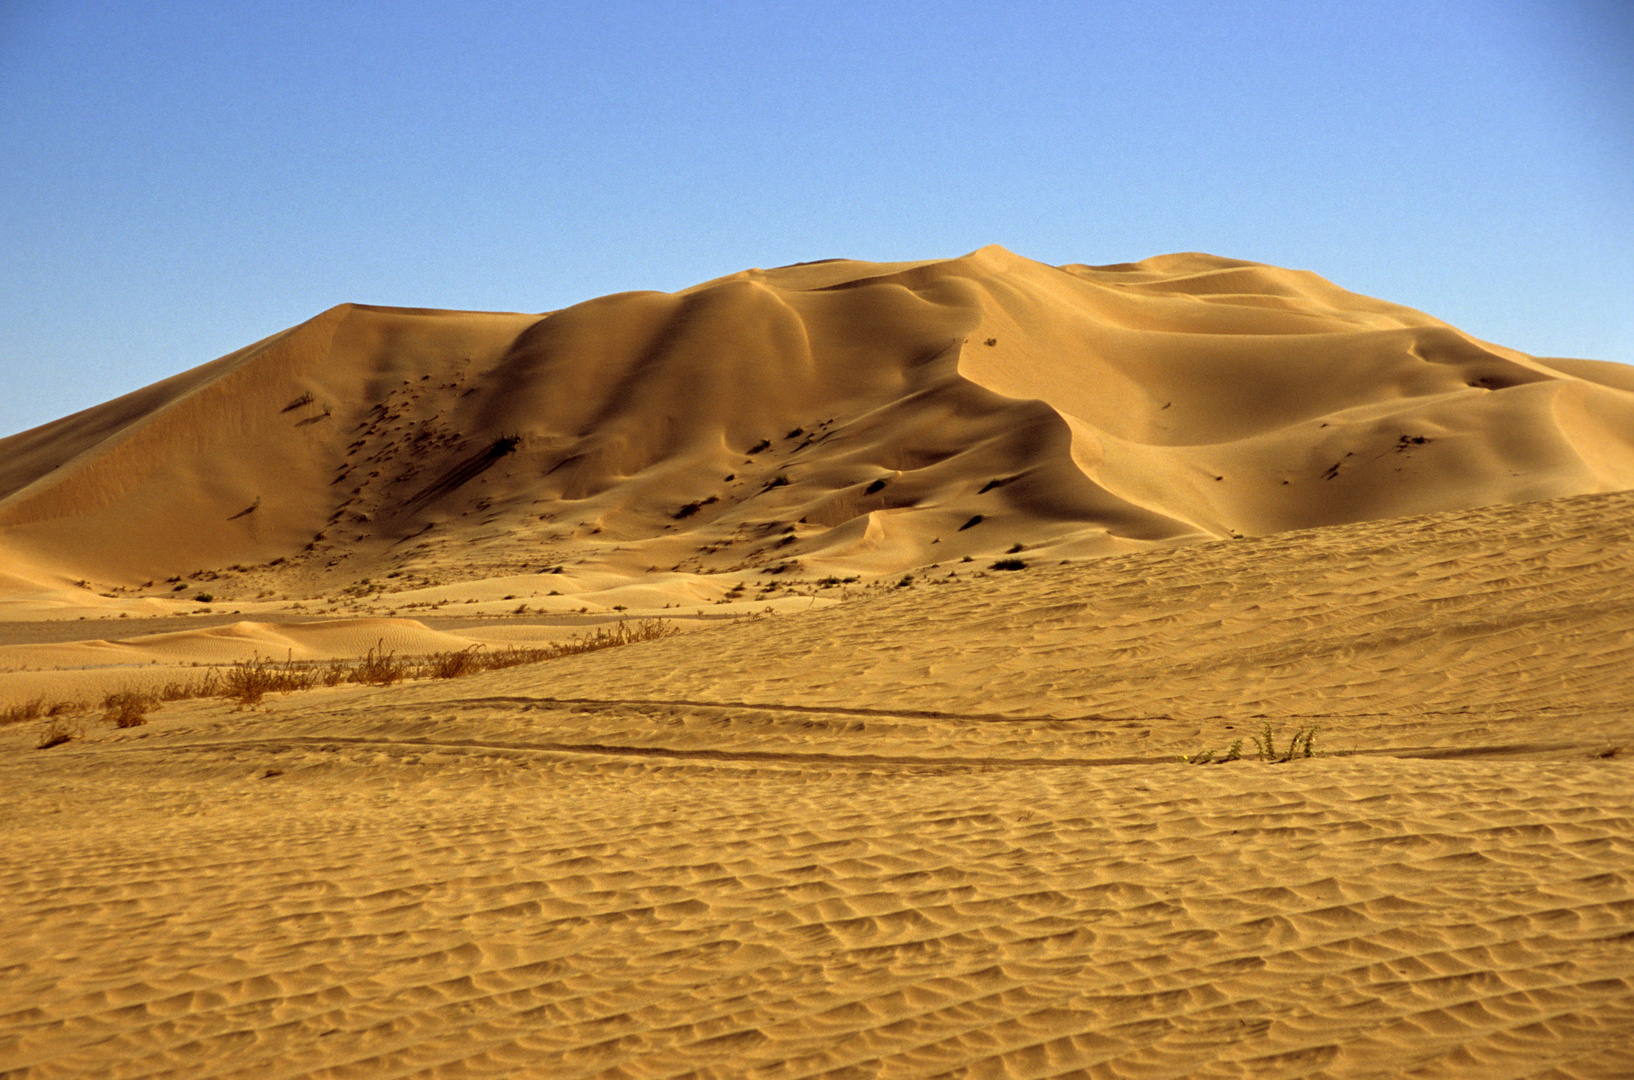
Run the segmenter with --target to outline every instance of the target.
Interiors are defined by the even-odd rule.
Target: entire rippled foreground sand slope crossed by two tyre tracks
[[[0,1070],[1627,1077],[1631,513],[0,729]]]

